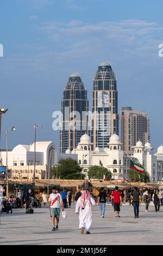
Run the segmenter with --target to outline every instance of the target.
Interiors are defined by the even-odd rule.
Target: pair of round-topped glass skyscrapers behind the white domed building
[[[78,73],[66,84],[61,103],[60,153],[77,147],[84,133],[91,136],[92,149],[108,147],[112,134],[119,133],[117,81],[109,62],[98,66],[93,78],[92,112],[87,90]]]

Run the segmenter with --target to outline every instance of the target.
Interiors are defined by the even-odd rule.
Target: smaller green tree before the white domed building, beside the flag
[[[111,172],[102,166],[91,166],[88,171],[89,179],[103,179],[103,176],[107,176],[108,180],[111,180]]]

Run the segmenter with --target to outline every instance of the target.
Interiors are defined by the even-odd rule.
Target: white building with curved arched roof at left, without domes
[[[6,166],[6,151],[0,153],[1,166]],[[58,150],[53,142],[36,142],[36,179],[46,179],[48,169],[58,163]],[[32,179],[34,175],[34,143],[17,145],[8,151],[9,175],[14,178]],[[51,177],[51,174],[50,174]]]

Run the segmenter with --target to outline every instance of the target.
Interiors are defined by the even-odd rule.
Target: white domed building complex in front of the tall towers
[[[141,163],[149,173],[151,182],[162,181],[163,179],[163,146],[158,148],[158,152],[153,154],[153,148],[149,142],[145,145],[138,141],[133,147],[133,156],[127,156],[122,150],[120,137],[116,134],[109,139],[108,148],[95,148],[91,150],[91,139],[88,135],[80,138],[80,143],[72,154],[78,155],[78,163],[83,168],[83,173],[87,175],[90,166],[100,165],[111,171],[112,178],[129,178],[130,159]],[[127,173],[126,173],[127,172]]]

